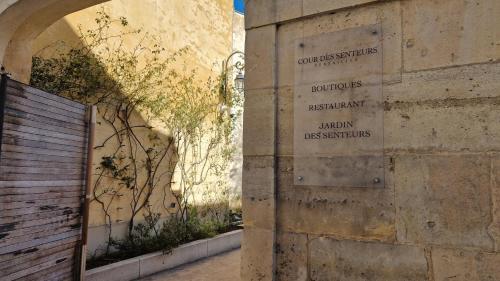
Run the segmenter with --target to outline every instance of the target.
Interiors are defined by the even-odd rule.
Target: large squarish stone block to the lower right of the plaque
[[[493,248],[488,157],[401,155],[394,179],[398,241]]]

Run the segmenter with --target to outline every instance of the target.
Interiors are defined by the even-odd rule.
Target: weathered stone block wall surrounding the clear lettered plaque
[[[243,280],[500,280],[500,2],[246,11]],[[294,40],[376,23],[385,188],[294,186]]]

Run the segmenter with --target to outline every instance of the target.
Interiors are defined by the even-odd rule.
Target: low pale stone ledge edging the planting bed
[[[203,258],[239,248],[242,230],[193,241],[175,248],[171,254],[156,252],[86,271],[86,280],[129,281],[172,269]]]

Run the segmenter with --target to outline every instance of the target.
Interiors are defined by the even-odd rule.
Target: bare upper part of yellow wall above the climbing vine
[[[82,44],[77,37],[78,26],[82,25],[83,30],[95,28],[95,18],[100,10],[106,11],[113,19],[126,17],[130,29],[141,28],[143,34],[148,32],[155,36],[168,54],[188,47],[187,55],[177,61],[179,70],[196,68],[198,76],[203,78],[218,74],[220,62],[232,51],[231,0],[111,0],[54,23],[33,42],[33,53],[55,55],[53,47],[58,41],[65,41],[69,47]],[[111,31],[119,30],[114,27]],[[133,50],[139,40],[139,37],[130,36],[123,48]],[[52,48],[47,48],[51,44]]]

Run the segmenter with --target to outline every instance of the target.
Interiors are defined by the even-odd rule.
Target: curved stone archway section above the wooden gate
[[[27,82],[32,42],[51,24],[108,0],[8,0],[0,3],[0,64],[13,79]]]

